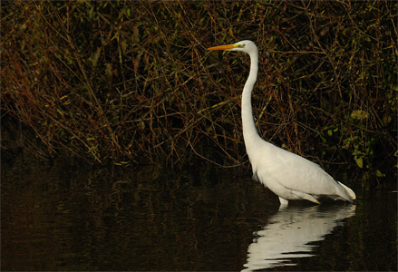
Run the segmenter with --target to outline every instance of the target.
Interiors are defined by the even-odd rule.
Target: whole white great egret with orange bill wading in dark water
[[[256,44],[246,40],[210,47],[208,50],[241,51],[250,56],[250,72],[242,92],[242,126],[253,179],[277,194],[282,206],[286,206],[288,200],[292,199],[307,199],[320,204],[318,199],[321,197],[353,202],[354,191],[334,180],[319,165],[278,148],[258,135],[251,108],[251,92],[258,71]]]

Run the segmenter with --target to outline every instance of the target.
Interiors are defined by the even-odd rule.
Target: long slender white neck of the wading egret
[[[242,127],[243,139],[245,141],[246,151],[248,156],[255,152],[256,141],[261,141],[260,136],[256,130],[256,125],[253,119],[253,111],[251,106],[251,92],[257,80],[258,72],[258,52],[253,51],[250,55],[250,73],[248,74],[248,81],[242,92]]]

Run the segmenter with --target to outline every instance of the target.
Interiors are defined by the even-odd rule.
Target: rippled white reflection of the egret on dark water
[[[331,205],[289,207],[279,209],[268,224],[254,232],[253,243],[248,247],[248,262],[242,271],[270,267],[296,266],[294,257],[311,257],[315,245],[343,219],[354,216],[355,206]]]

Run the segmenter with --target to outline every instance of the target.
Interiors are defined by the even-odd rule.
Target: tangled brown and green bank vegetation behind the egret
[[[10,1],[1,9],[2,134],[37,156],[245,164],[248,56],[206,48],[250,39],[260,52],[253,103],[264,139],[363,169],[364,180],[396,170],[396,2]]]

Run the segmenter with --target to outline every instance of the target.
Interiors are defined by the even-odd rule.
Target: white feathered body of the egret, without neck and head
[[[310,160],[262,141],[248,156],[257,179],[282,199],[319,197],[353,201],[355,194]],[[311,196],[311,197],[308,197]],[[314,198],[314,199],[313,199]]]

